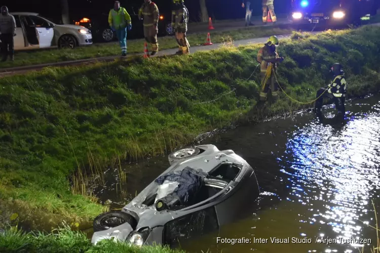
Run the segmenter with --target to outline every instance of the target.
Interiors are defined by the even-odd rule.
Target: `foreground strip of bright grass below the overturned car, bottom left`
[[[142,248],[103,240],[92,245],[86,234],[69,228],[55,230],[54,233],[24,233],[14,228],[0,232],[0,252],[6,253],[181,253],[161,246]]]

